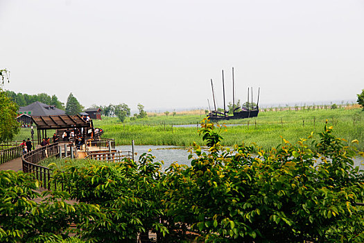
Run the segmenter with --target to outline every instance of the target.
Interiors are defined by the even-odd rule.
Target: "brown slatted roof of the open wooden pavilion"
[[[81,119],[79,115],[49,115],[32,117],[37,129],[62,129],[89,127],[89,122]]]

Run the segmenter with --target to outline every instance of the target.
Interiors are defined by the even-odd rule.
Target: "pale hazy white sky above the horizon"
[[[356,101],[362,0],[0,0],[4,88],[146,110]]]

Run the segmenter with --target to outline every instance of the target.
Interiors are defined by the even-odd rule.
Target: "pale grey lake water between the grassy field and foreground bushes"
[[[132,151],[132,146],[123,145],[116,146],[117,150],[121,151]],[[139,159],[142,153],[147,153],[148,149],[152,149],[150,152],[155,156],[155,162],[161,160],[164,161],[164,168],[169,167],[173,162],[178,162],[180,165],[191,165],[191,160],[188,159],[189,152],[184,147],[180,146],[168,146],[168,145],[136,145],[134,146],[135,153],[137,153],[136,160]],[[354,158],[354,165],[359,166],[360,169],[364,169],[363,165],[364,158],[356,157]]]

